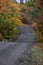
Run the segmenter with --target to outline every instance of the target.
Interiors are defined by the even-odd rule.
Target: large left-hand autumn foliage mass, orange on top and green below
[[[18,25],[21,25],[19,5],[13,0],[1,0],[0,7],[0,40],[13,40],[19,35]]]

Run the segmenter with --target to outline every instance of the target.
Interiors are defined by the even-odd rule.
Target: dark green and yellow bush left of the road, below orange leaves
[[[1,14],[0,16],[0,34],[4,39],[8,41],[14,38],[14,35],[18,33],[18,28],[14,21],[10,19],[9,15]]]

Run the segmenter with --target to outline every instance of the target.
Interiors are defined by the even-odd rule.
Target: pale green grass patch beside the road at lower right
[[[40,43],[36,43],[32,49],[32,62],[31,65],[43,65],[43,50],[40,48]]]

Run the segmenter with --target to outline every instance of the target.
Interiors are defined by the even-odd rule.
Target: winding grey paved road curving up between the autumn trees
[[[35,42],[36,34],[30,26],[21,26],[22,34],[16,42],[0,42],[0,65],[20,65],[20,59],[30,51]],[[20,59],[20,60],[19,60]]]

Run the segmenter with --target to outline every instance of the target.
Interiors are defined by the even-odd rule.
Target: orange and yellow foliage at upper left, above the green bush
[[[0,14],[1,13],[8,14],[10,17],[10,20],[14,22],[18,22],[18,24],[21,23],[20,7],[15,1],[1,0],[0,7],[1,7]]]

